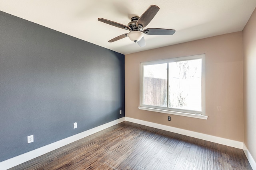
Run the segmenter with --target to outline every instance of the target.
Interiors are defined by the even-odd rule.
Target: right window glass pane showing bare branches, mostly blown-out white
[[[202,59],[169,63],[168,107],[202,111]]]

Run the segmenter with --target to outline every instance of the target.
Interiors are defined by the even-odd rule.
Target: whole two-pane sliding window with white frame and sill
[[[207,119],[205,55],[140,63],[139,109]]]

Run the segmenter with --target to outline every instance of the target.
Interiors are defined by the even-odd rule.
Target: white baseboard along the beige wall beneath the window
[[[234,148],[238,148],[238,149],[243,149],[243,143],[239,142],[239,141],[233,141],[233,140],[230,140],[230,139],[225,139],[225,138],[216,137],[216,136],[212,136],[212,135],[206,135],[206,134],[203,134],[203,133],[188,131],[188,130],[179,129],[179,128],[176,128],[176,127],[161,125],[161,124],[158,124],[158,123],[152,123],[152,122],[143,121],[143,120],[139,120],[139,119],[134,119],[134,118],[130,118],[130,117],[125,117],[125,120],[133,122],[133,123],[137,123],[137,124],[140,124],[140,125],[154,127],[156,129],[162,129],[162,130],[165,130],[165,131],[170,131],[170,132],[178,133],[178,134],[181,134],[181,135],[186,135],[186,136],[202,139],[202,140],[205,140],[205,141],[219,143],[221,145],[226,145],[226,146],[230,146],[230,147],[234,147]]]

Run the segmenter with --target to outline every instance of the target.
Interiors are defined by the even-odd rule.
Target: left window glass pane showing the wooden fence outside
[[[167,63],[144,65],[143,104],[167,107]]]

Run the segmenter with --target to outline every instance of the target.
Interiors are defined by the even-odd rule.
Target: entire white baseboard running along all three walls
[[[154,128],[157,128],[157,129],[162,129],[162,130],[165,130],[165,131],[179,133],[181,135],[195,137],[195,138],[198,138],[198,139],[203,139],[203,140],[206,140],[206,141],[219,143],[219,144],[227,145],[227,146],[230,146],[230,147],[235,147],[235,148],[238,148],[238,149],[244,149],[244,153],[246,154],[246,156],[247,156],[247,158],[248,158],[248,160],[249,160],[249,162],[252,166],[252,169],[256,170],[256,162],[252,158],[252,155],[248,151],[247,147],[242,142],[233,141],[233,140],[225,139],[225,138],[221,138],[221,137],[215,137],[215,136],[212,136],[212,135],[206,135],[206,134],[203,134],[203,133],[188,131],[188,130],[184,130],[184,129],[179,129],[179,128],[176,128],[176,127],[161,125],[161,124],[158,124],[158,123],[152,123],[152,122],[148,122],[148,121],[134,119],[134,118],[130,118],[130,117],[122,117],[120,119],[111,121],[111,122],[106,123],[104,125],[100,125],[98,127],[89,129],[89,130],[84,131],[82,133],[78,133],[78,134],[73,135],[71,137],[68,137],[68,138],[62,139],[60,141],[51,143],[51,144],[46,145],[44,147],[41,147],[41,148],[32,150],[30,152],[15,156],[15,157],[10,158],[8,160],[4,160],[4,161],[0,162],[0,170],[6,170],[8,168],[12,168],[12,167],[17,166],[19,164],[22,164],[22,163],[24,163],[28,160],[31,160],[33,158],[36,158],[36,157],[41,156],[43,154],[46,154],[46,153],[48,153],[52,150],[58,149],[58,148],[63,147],[65,145],[68,145],[68,144],[70,144],[74,141],[77,141],[79,139],[82,139],[84,137],[92,135],[96,132],[102,131],[102,130],[108,128],[108,127],[111,127],[111,126],[116,125],[118,123],[121,123],[123,121],[130,121],[130,122],[137,123],[137,124],[140,124],[140,125],[145,125],[145,126],[154,127]]]

